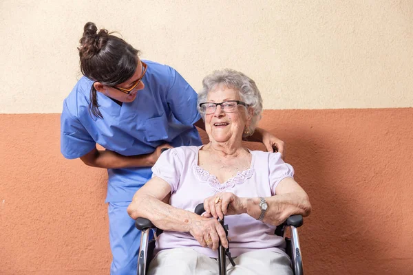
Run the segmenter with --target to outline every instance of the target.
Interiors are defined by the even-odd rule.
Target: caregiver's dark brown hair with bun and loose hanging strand
[[[97,31],[98,28],[92,22],[87,22],[83,28],[81,46],[78,47],[82,74],[103,85],[124,83],[135,73],[139,51],[112,35],[112,32],[105,29]],[[89,98],[89,112],[103,118],[94,85],[90,89]]]

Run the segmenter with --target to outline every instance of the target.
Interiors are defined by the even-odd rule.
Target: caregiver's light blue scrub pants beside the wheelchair
[[[111,275],[136,274],[140,245],[140,230],[127,214],[130,201],[109,202],[109,241],[112,250]]]

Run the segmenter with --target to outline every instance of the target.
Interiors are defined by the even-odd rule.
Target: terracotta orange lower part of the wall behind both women
[[[61,156],[59,114],[0,125],[0,274],[109,274],[105,170]],[[267,110],[260,125],[313,204],[306,274],[413,274],[412,108]]]

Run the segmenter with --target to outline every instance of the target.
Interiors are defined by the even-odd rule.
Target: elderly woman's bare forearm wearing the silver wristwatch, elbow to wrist
[[[301,214],[307,217],[311,212],[308,196],[299,192],[275,195],[265,199],[268,209],[264,216],[264,223],[279,225],[293,214]],[[260,217],[260,198],[248,198],[245,205],[247,214],[255,219]]]

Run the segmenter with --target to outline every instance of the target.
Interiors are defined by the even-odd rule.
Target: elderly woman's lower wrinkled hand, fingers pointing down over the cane
[[[203,248],[209,247],[212,250],[218,250],[220,241],[224,248],[228,248],[224,228],[216,219],[197,217],[197,219],[191,221],[189,233]]]

